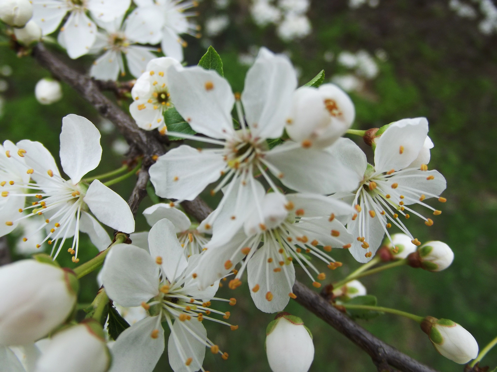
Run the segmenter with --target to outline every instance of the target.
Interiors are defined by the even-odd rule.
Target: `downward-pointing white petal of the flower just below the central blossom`
[[[274,244],[274,242],[269,244]],[[293,263],[290,262],[290,264],[281,267],[275,257],[271,257],[271,253],[276,252],[276,249],[273,247],[269,250],[268,244],[265,243],[252,255],[247,264],[250,296],[252,296],[253,303],[257,309],[264,312],[277,312],[285,309],[288,301],[290,301],[288,294],[292,292],[293,283],[295,282]],[[270,257],[273,258],[272,263],[267,262]],[[281,271],[274,272],[273,269],[276,267],[281,267]],[[252,288],[257,284],[259,285],[259,290],[257,292],[252,291]],[[271,301],[266,299],[267,292],[271,292],[273,296]]]

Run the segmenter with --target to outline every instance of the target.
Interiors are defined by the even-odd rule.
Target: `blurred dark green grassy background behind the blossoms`
[[[344,0],[312,1],[308,17],[310,36],[291,43],[282,42],[274,26],[257,27],[250,18],[249,0],[232,0],[222,10],[204,0],[198,23],[220,13],[230,24],[215,37],[185,37],[188,64],[196,64],[212,44],[224,62],[225,76],[234,91],[242,91],[248,66],[241,64],[240,54],[253,53],[254,47],[266,46],[287,53],[297,66],[300,83],[306,83],[321,69],[326,81],[332,75],[348,73],[337,63],[342,51],[366,50],[379,67],[376,78],[364,81],[362,88],[350,95],[356,107],[354,128],[379,127],[403,118],[425,116],[430,123],[432,149],[430,169],[439,170],[447,179],[444,192],[448,201],[427,228],[419,219],[410,219],[408,227],[421,242],[441,240],[454,250],[454,263],[445,271],[430,273],[420,269],[396,268],[381,275],[364,278],[369,294],[378,297],[379,305],[406,310],[418,315],[452,319],[467,328],[483,348],[497,335],[497,37],[483,35],[478,19],[461,18],[448,7],[447,0],[381,0],[372,8],[350,9]],[[63,56],[63,54],[61,54]],[[381,58],[380,58],[381,57]],[[87,70],[91,58],[77,61],[63,58],[81,71]],[[102,122],[91,106],[69,86],[63,85],[64,99],[51,106],[40,105],[34,86],[49,73],[32,58],[17,58],[15,52],[0,47],[0,67],[10,66],[11,74],[0,77],[6,91],[0,93],[4,104],[0,117],[0,140],[38,140],[57,156],[61,120],[67,114],[85,116],[102,131],[102,162],[94,174],[116,169],[125,159],[116,150],[123,147],[119,133]],[[8,72],[4,70],[4,72]],[[129,79],[128,75],[124,79]],[[120,102],[127,110],[128,102]],[[117,142],[116,140],[120,140]],[[354,138],[355,140],[355,138]],[[368,153],[359,138],[357,143]],[[124,146],[125,147],[125,146]],[[120,150],[122,152],[122,149]],[[119,151],[118,151],[119,152]],[[370,153],[368,153],[371,156]],[[134,179],[113,186],[125,199]],[[207,196],[207,195],[205,195]],[[212,202],[208,197],[206,199]],[[439,204],[431,202],[433,206]],[[148,228],[141,211],[150,206],[147,197],[137,217],[137,231]],[[214,205],[213,205],[214,206]],[[14,237],[9,237],[13,247]],[[83,244],[83,243],[82,243]],[[96,253],[84,240],[82,262]],[[20,258],[12,250],[13,257]],[[345,250],[333,256],[344,265],[330,272],[327,281],[342,278],[358,266]],[[62,250],[59,260],[73,265]],[[301,277],[301,270],[297,270]],[[95,274],[96,275],[96,274]],[[95,275],[85,277],[80,302],[89,303],[97,284]],[[310,285],[305,277],[302,281]],[[246,285],[235,292],[224,286],[219,297],[238,299],[231,308],[230,321],[240,328],[206,323],[208,335],[229,353],[227,361],[206,353],[207,371],[270,371],[264,352],[265,327],[274,314],[255,309]],[[370,358],[341,334],[313,314],[291,301],[287,311],[302,317],[314,334],[316,355],[311,371],[376,371]],[[401,351],[440,371],[462,371],[463,367],[440,356],[413,321],[383,315],[360,321],[376,336]],[[497,366],[497,350],[484,359],[483,365]],[[163,356],[155,371],[169,371]]]

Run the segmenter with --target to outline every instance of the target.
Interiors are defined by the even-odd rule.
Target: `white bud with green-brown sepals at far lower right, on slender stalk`
[[[421,322],[435,349],[445,358],[466,364],[478,356],[478,343],[461,325],[449,319],[426,316]]]

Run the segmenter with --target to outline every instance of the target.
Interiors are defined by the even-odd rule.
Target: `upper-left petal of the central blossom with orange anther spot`
[[[196,132],[213,138],[233,133],[231,86],[216,71],[199,66],[169,67],[169,92],[176,110]],[[194,102],[194,104],[193,104]]]

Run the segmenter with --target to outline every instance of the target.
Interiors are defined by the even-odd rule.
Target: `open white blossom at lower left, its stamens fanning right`
[[[132,370],[151,372],[161,357],[165,342],[161,322],[166,321],[171,334],[167,352],[169,364],[175,372],[193,372],[202,367],[205,347],[226,359],[228,354],[207,338],[202,320],[229,323],[208,316],[219,282],[199,291],[196,268],[198,255],[188,260],[176,238],[174,225],[160,220],[149,233],[150,254],[131,245],[114,246],[103,266],[103,284],[109,298],[125,307],[142,306],[149,311],[146,317],[119,335],[112,346],[112,372]],[[230,301],[235,305],[236,300]],[[235,330],[238,326],[231,325]]]

